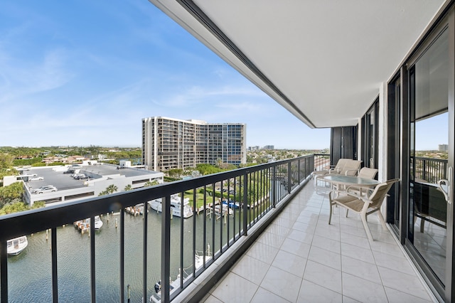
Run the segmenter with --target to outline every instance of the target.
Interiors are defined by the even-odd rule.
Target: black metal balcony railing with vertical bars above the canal
[[[118,213],[119,222],[115,228],[118,240],[118,257],[109,260],[109,264],[118,267],[119,281],[115,285],[109,285],[115,289],[119,302],[129,302],[130,296],[134,302],[148,302],[155,293],[155,280],[161,279],[161,302],[170,302],[196,277],[201,275],[215,260],[230,249],[233,243],[247,235],[252,228],[266,213],[271,211],[277,204],[289,197],[291,191],[299,187],[305,181],[315,167],[314,155],[302,156],[296,159],[277,161],[269,164],[250,166],[243,169],[228,171],[220,174],[202,176],[184,181],[176,181],[149,188],[140,188],[133,191],[114,193],[108,196],[100,196],[82,201],[63,203],[60,205],[46,206],[31,211],[14,213],[0,217],[0,295],[1,302],[16,301],[16,292],[13,292],[11,279],[20,277],[9,276],[9,262],[6,242],[9,239],[21,235],[33,235],[33,233],[47,233],[50,230],[50,269],[43,273],[50,280],[53,302],[58,302],[59,289],[65,284],[59,270],[65,265],[58,261],[63,257],[58,253],[58,230],[63,225],[74,223],[77,220],[90,218],[95,222],[95,216],[104,214],[109,218],[112,213]],[[183,201],[189,199],[189,205],[194,211],[194,216],[183,218],[172,216],[171,198],[178,195],[181,199],[181,213],[184,211]],[[149,208],[148,201],[161,199],[162,213],[157,215],[151,211],[143,211],[141,222],[141,290],[139,293],[130,293],[129,285],[125,282],[125,264],[132,258],[127,255],[126,239],[129,233],[125,231],[127,209],[138,204]],[[223,203],[225,201],[226,204]],[[151,217],[154,216],[154,217]],[[157,217],[160,216],[161,218]],[[112,217],[111,217],[112,218]],[[153,220],[161,220],[159,228],[153,230],[159,233],[161,239],[151,241],[149,233],[150,224]],[[140,222],[140,221],[139,221]],[[98,238],[102,238],[103,230],[95,233],[95,224],[90,225],[89,250],[90,255],[90,292],[91,302],[100,300],[97,297],[97,262],[100,262],[100,254],[95,253],[95,245]],[[82,235],[81,235],[82,237]],[[47,237],[46,237],[47,240]],[[172,240],[172,241],[171,241]],[[117,243],[116,243],[117,244]],[[209,251],[206,250],[210,245]],[[158,250],[151,252],[152,249]],[[199,251],[203,251],[200,255]],[[159,272],[153,272],[151,254],[159,256]],[[26,257],[33,257],[31,254]],[[95,258],[96,257],[96,258]],[[128,260],[127,260],[128,258]],[[200,262],[198,262],[198,260]],[[155,261],[154,261],[155,262]],[[156,262],[155,262],[156,263]],[[171,268],[172,266],[172,268]],[[175,268],[178,267],[178,268]],[[98,267],[99,268],[99,267]],[[175,275],[171,272],[179,270],[179,275],[171,282]],[[24,272],[24,275],[27,273]],[[152,275],[153,274],[153,275]],[[52,277],[48,277],[51,275]],[[88,283],[87,283],[88,285]],[[118,291],[117,291],[118,287]],[[68,289],[69,291],[69,289]],[[21,289],[27,292],[27,289]],[[9,296],[11,296],[9,298]],[[77,294],[75,294],[77,296]],[[36,297],[40,301],[40,297]],[[114,299],[117,301],[117,299]]]

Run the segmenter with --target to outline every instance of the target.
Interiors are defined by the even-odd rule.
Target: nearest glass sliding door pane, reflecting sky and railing
[[[441,31],[409,68],[410,161],[407,240],[432,284],[446,282],[448,203],[439,188],[449,157],[449,30]],[[452,120],[453,121],[453,120]],[[453,132],[452,132],[453,134]],[[452,159],[453,161],[453,159]],[[449,217],[451,218],[451,216]],[[441,293],[442,295],[442,293]]]

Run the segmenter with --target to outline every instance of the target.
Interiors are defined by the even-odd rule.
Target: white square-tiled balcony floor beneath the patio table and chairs
[[[218,282],[205,302],[437,302],[377,217],[370,242],[328,188],[307,184]]]

